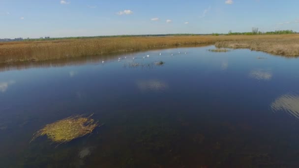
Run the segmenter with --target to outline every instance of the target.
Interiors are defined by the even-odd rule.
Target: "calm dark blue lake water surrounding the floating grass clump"
[[[299,167],[299,59],[209,48],[2,67],[0,167]],[[29,143],[91,113],[90,136]]]

